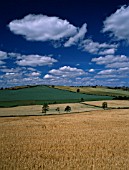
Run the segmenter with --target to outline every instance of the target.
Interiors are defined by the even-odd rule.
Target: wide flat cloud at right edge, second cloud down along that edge
[[[129,58],[125,55],[107,55],[104,57],[92,58],[92,62],[98,65],[106,65],[107,68],[126,67],[129,64]]]

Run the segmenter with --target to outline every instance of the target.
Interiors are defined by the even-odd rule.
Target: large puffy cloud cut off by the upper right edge
[[[129,6],[122,6],[104,21],[103,33],[109,32],[118,40],[129,42]]]

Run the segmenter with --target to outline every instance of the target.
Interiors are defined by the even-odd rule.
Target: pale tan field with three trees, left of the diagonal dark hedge
[[[88,106],[82,103],[65,103],[65,104],[50,104],[49,111],[47,114],[62,114],[66,113],[65,107],[71,107],[71,113],[74,112],[84,112],[90,110],[98,110],[100,108],[95,108],[93,106]],[[60,108],[60,112],[56,111],[56,108]],[[31,106],[18,106],[11,108],[0,108],[0,116],[23,116],[23,115],[43,115],[41,105],[31,105]]]

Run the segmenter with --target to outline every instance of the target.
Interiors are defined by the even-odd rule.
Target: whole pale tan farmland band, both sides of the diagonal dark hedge
[[[117,108],[129,108],[128,100],[104,100],[104,101],[86,101],[81,103],[62,103],[62,104],[49,104],[49,110],[46,115],[60,115],[66,114],[66,106],[71,107],[71,113],[81,113],[94,110],[103,110],[102,103],[107,102],[108,109],[117,109]],[[60,108],[60,111],[56,111],[57,108]],[[30,106],[18,106],[10,108],[0,108],[0,117],[6,116],[40,116],[44,115],[42,113],[41,105],[30,105]]]

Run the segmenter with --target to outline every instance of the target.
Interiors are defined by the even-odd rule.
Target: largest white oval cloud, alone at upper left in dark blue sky
[[[51,41],[68,38],[77,34],[77,28],[67,20],[46,15],[29,14],[23,19],[13,20],[9,29],[29,41]]]

